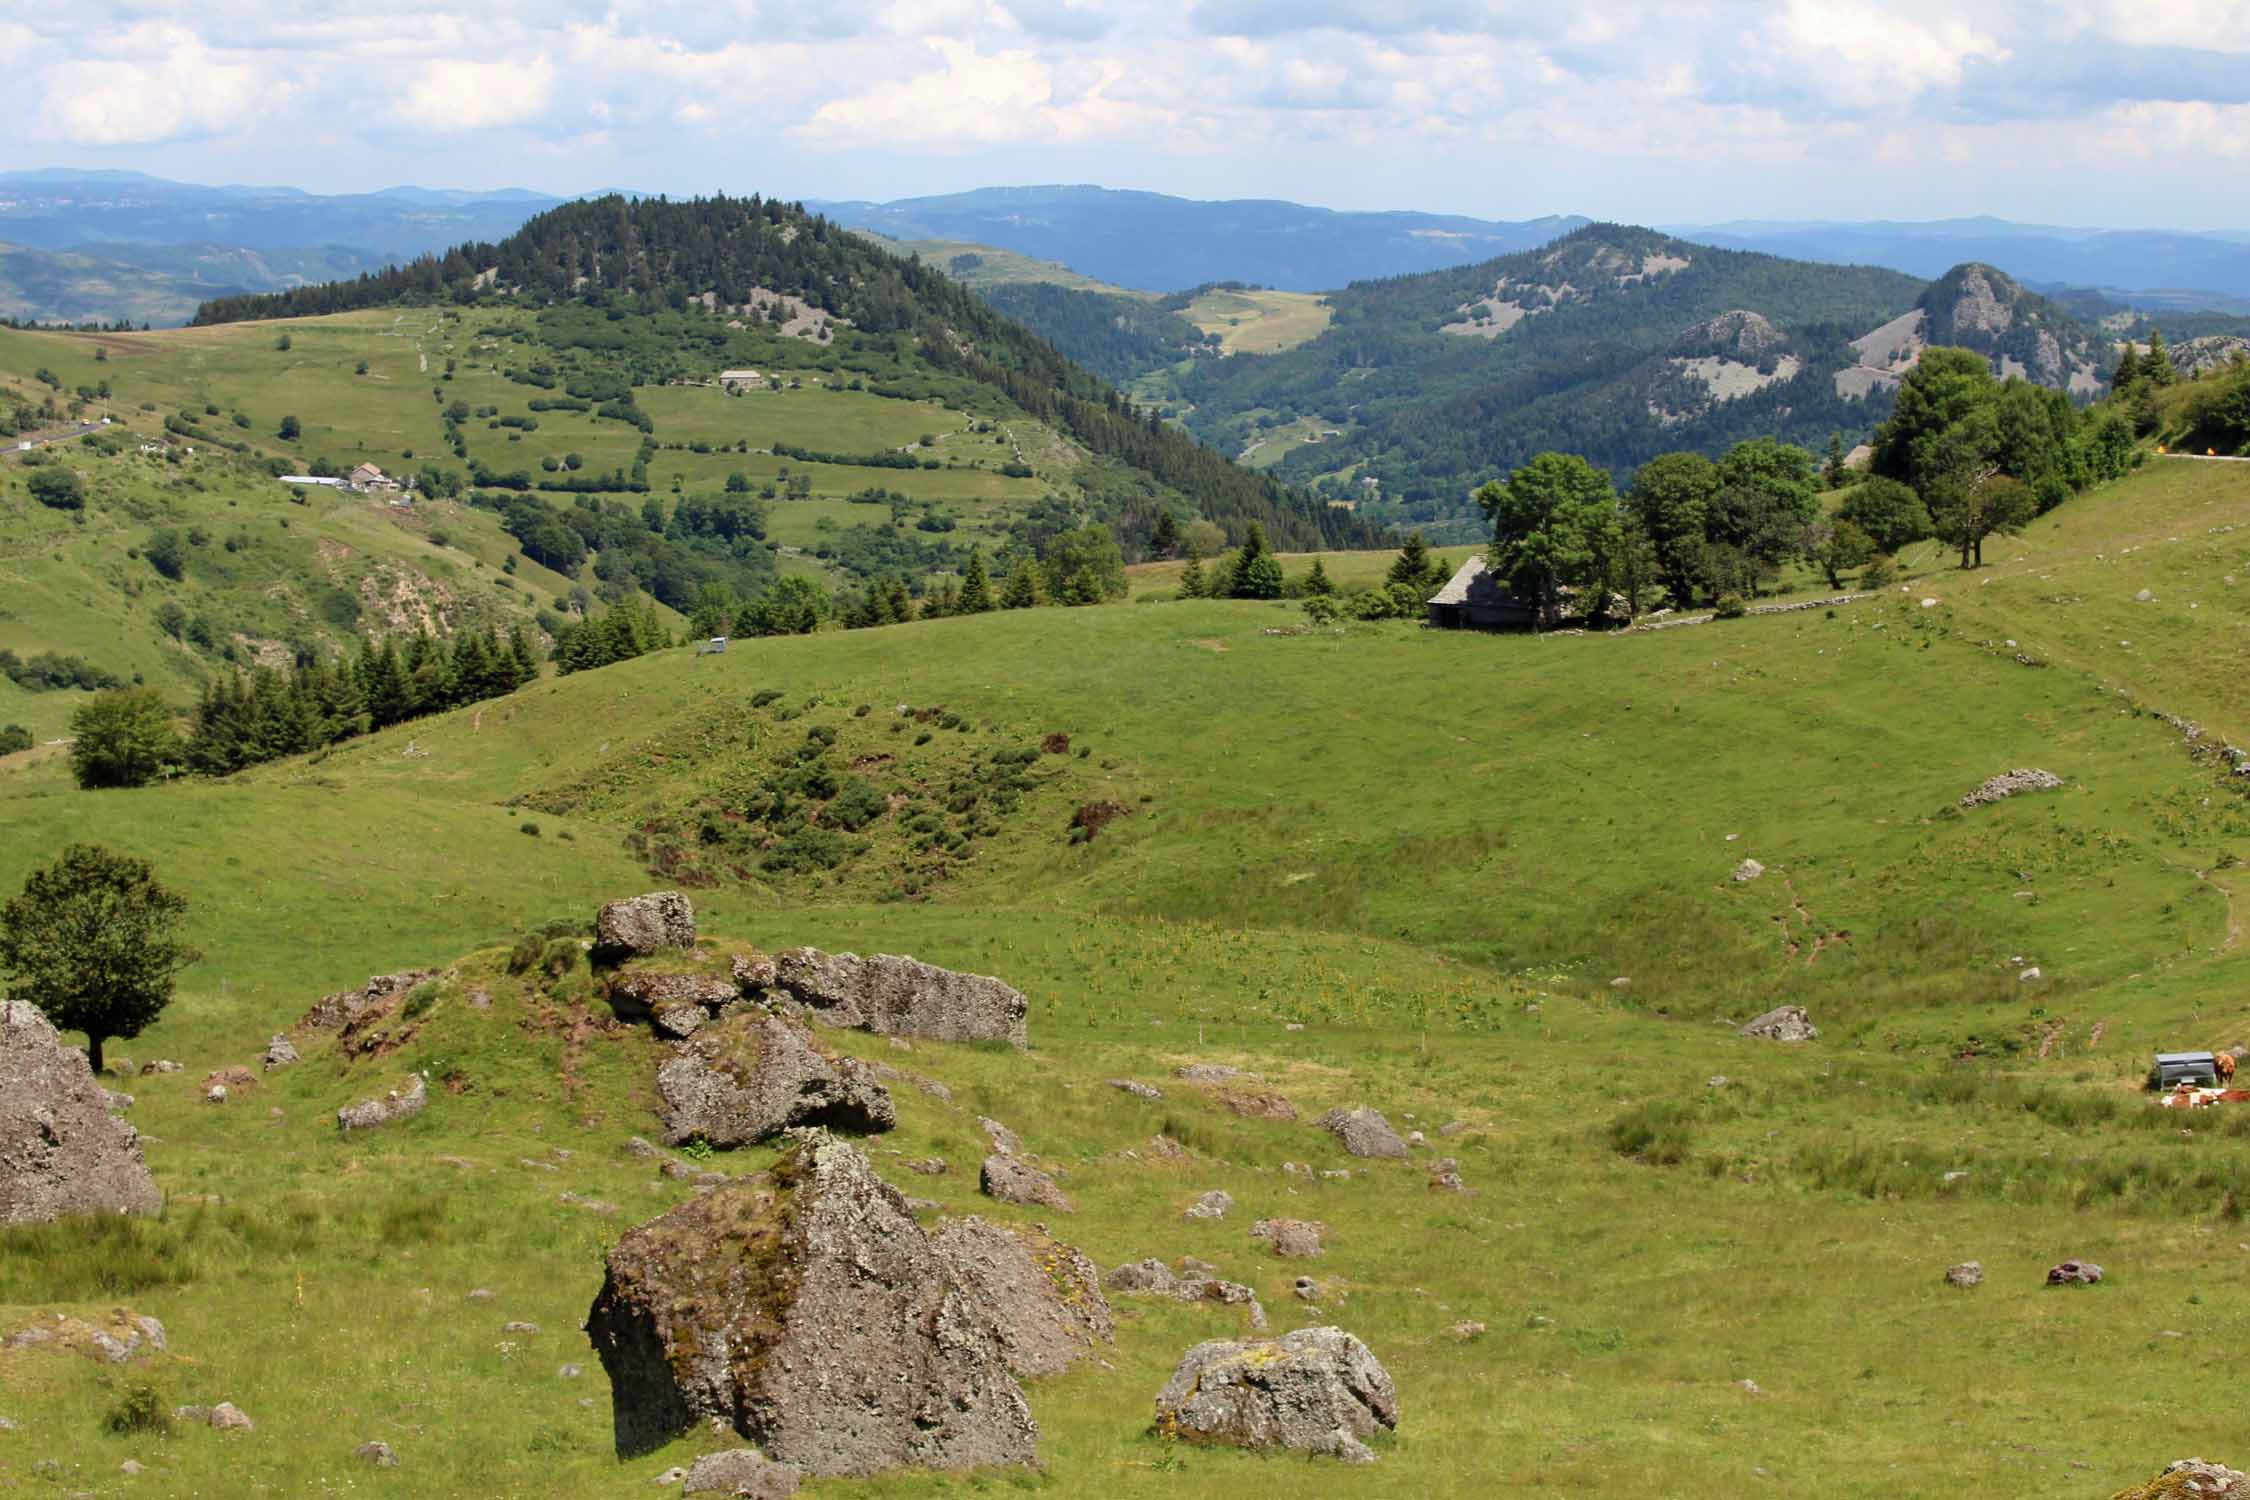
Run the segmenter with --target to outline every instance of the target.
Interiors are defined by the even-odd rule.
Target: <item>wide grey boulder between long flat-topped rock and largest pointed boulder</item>
[[[738,1010],[657,1068],[664,1142],[742,1147],[796,1124],[873,1133],[898,1124],[875,1070],[828,1052],[801,1021]]]

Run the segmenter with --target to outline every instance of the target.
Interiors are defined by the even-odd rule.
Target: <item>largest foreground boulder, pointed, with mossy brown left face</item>
[[[866,1156],[826,1133],[628,1232],[587,1336],[621,1455],[706,1419],[814,1475],[1037,1453],[976,1293]]]

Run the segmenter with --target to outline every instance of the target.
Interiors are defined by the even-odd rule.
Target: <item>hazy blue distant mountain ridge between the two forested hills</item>
[[[1105,187],[983,187],[898,202],[810,202],[848,229],[893,241],[997,245],[1136,292],[1249,281],[1325,292],[1352,281],[1490,261],[1586,220],[1496,223],[1454,214],[1341,214],[1300,202],[1204,202]]]

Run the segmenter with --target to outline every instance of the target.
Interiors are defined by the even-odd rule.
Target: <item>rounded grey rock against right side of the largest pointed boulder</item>
[[[1116,1338],[1094,1262],[1046,1230],[968,1217],[932,1244],[986,1309],[1015,1374],[1062,1374]]]

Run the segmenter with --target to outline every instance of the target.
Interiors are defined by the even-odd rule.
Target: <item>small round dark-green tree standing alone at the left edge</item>
[[[187,897],[160,886],[146,859],[70,843],[0,906],[7,996],[56,1030],[86,1032],[101,1073],[101,1043],[140,1037],[171,1003],[173,974],[200,958],[180,938],[184,913]]]

